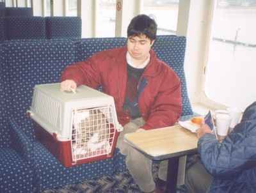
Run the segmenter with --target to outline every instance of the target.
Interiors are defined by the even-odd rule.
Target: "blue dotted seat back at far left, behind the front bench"
[[[6,17],[7,40],[46,39],[44,17]]]

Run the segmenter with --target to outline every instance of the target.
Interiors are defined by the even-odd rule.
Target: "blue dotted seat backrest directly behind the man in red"
[[[96,52],[125,45],[126,38],[85,38],[77,43],[78,61],[92,56]],[[169,65],[179,76],[182,86],[182,116],[193,114],[188,98],[184,57],[186,38],[184,36],[157,36],[153,46],[159,59]]]

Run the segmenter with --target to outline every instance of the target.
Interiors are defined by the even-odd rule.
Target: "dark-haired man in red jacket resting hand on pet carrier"
[[[81,84],[101,85],[104,93],[113,96],[118,121],[124,126],[116,146],[126,155],[127,168],[143,192],[156,188],[152,161],[128,146],[124,134],[168,127],[182,111],[179,77],[151,49],[156,31],[154,20],[138,15],[128,26],[125,47],[104,50],[70,65],[61,76],[63,91]],[[164,171],[161,168],[159,171]],[[159,176],[164,180],[164,174]]]

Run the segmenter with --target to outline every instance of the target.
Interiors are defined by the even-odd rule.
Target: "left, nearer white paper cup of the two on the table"
[[[228,129],[231,121],[229,114],[217,113],[215,114],[215,118],[217,134],[220,136],[226,136],[228,134]]]

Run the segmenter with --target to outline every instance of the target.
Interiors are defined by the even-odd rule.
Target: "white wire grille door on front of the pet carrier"
[[[73,111],[72,160],[111,154],[115,141],[113,111],[109,106]]]

